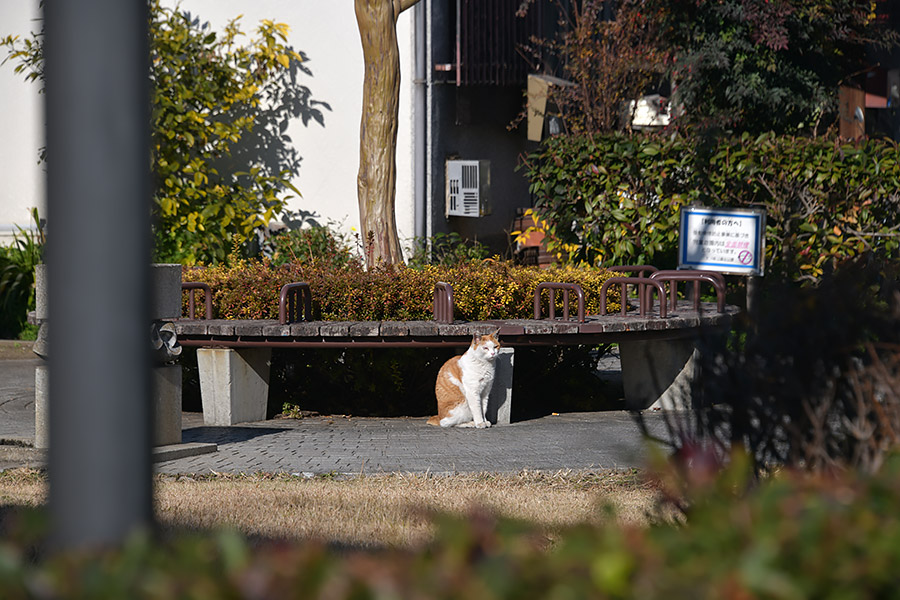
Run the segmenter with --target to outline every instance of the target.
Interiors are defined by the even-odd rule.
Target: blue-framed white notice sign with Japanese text
[[[681,209],[678,268],[762,275],[766,212],[687,206]]]

